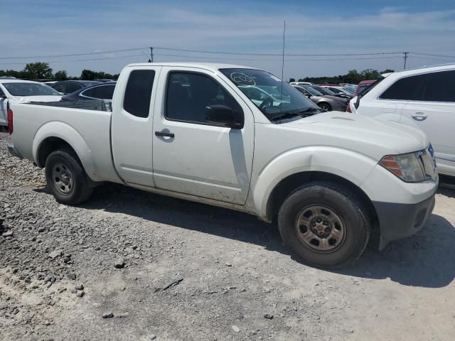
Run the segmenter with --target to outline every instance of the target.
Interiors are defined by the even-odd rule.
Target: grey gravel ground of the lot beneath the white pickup
[[[453,190],[419,234],[323,271],[240,212],[119,185],[59,205],[8,141],[1,340],[454,340]]]

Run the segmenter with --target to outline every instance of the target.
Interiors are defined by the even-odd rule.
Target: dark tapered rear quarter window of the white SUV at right
[[[424,77],[425,75],[417,75],[397,80],[379,98],[421,101]]]

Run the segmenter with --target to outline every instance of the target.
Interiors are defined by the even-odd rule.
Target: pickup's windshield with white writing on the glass
[[[252,69],[220,69],[261,112],[272,121],[289,112],[319,109],[287,82],[269,72]]]

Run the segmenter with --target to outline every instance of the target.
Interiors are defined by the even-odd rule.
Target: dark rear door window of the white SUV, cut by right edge
[[[424,75],[422,97],[429,102],[455,102],[455,70]]]

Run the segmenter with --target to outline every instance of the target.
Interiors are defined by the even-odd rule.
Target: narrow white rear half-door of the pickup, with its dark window
[[[120,177],[132,185],[153,187],[152,125],[156,81],[161,67],[127,67],[112,103],[112,156]]]

